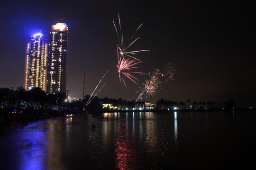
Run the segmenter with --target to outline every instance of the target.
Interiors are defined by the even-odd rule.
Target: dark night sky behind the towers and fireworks
[[[112,18],[118,12],[124,37],[128,40],[137,26],[141,40],[135,49],[145,63],[138,71],[163,69],[176,63],[175,80],[148,101],[234,99],[238,104],[256,106],[255,4],[247,2],[155,0],[69,0],[14,1],[0,4],[0,87],[23,85],[25,45],[30,36],[42,31],[48,37],[51,25],[64,22],[69,27],[67,89],[82,98],[83,72],[86,94],[91,93],[103,73],[107,85],[100,97],[135,99],[138,86],[127,80],[119,83],[116,69],[117,36]],[[139,76],[140,83],[145,76]]]

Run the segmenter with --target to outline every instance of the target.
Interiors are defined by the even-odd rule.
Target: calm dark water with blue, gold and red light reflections
[[[256,112],[48,119],[0,135],[0,169],[245,169],[255,167],[255,123]]]

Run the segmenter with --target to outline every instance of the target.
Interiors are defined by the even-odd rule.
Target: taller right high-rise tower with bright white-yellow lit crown
[[[46,93],[65,92],[67,71],[68,27],[64,23],[52,26],[48,39]]]

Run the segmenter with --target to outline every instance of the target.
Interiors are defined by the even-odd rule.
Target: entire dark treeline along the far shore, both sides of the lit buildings
[[[40,88],[33,88],[31,90],[25,90],[22,86],[17,89],[0,88],[0,110],[11,110],[16,109],[34,109],[34,110],[68,110],[68,111],[82,111],[85,107],[90,96],[85,95],[84,100],[75,100],[66,102],[66,96],[64,93],[48,94]],[[102,104],[112,104],[113,107],[119,109],[134,108],[135,100],[126,100],[122,98],[99,98],[95,97],[91,103],[86,106],[88,110],[101,110]],[[191,102],[190,99],[183,101],[171,101],[161,98],[156,102],[156,109],[207,109],[207,108],[225,108],[230,109],[236,107],[233,100],[216,104],[213,101],[201,101]]]

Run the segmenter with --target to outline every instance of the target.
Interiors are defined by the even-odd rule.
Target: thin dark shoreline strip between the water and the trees
[[[63,117],[66,114],[94,114],[94,113],[133,113],[133,112],[155,112],[155,113],[171,113],[171,112],[233,112],[233,111],[255,111],[255,108],[234,108],[234,109],[151,109],[151,110],[87,110],[88,112],[82,111],[56,111],[56,110],[23,110],[22,113],[7,113],[0,112],[0,134],[4,132],[5,129],[21,128],[28,125],[29,123],[55,118]]]

